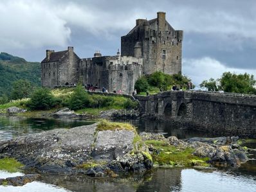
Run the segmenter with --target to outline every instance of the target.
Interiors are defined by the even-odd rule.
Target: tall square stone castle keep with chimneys
[[[155,19],[137,19],[133,30],[121,37],[122,56],[143,58],[143,74],[181,73],[183,31],[174,30],[158,12]]]

